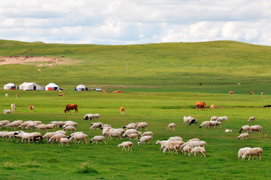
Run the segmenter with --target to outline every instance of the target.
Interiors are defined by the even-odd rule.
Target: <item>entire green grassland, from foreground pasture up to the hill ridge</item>
[[[0,66],[0,84],[24,80],[41,85],[51,81],[68,87],[64,96],[53,91],[0,90],[0,109],[16,112],[0,114],[0,120],[74,120],[77,131],[90,138],[101,130],[90,131],[85,113],[100,113],[98,121],[119,128],[130,122],[145,121],[153,132],[149,145],[136,144],[132,151],[121,151],[122,140],[107,144],[57,143],[22,144],[0,140],[0,179],[268,179],[270,166],[270,103],[269,46],[233,41],[200,43],[161,43],[142,45],[69,45],[26,43],[0,40],[0,56],[28,55],[74,59],[73,65],[59,65],[52,70],[34,65]],[[126,73],[126,61],[128,72]],[[204,64],[204,75],[202,65]],[[262,65],[264,64],[264,65]],[[41,68],[41,71],[37,71]],[[237,82],[245,85],[237,85]],[[74,85],[138,85],[116,89],[128,93],[73,91]],[[201,86],[198,86],[202,83]],[[140,87],[161,86],[161,87]],[[114,86],[105,86],[113,90]],[[109,89],[112,88],[112,89]],[[234,90],[235,94],[227,94]],[[248,95],[255,91],[255,95]],[[260,91],[265,93],[259,95]],[[4,94],[8,93],[8,98]],[[16,98],[15,94],[20,97]],[[195,110],[195,101],[205,101],[221,108]],[[67,103],[77,103],[78,113],[64,113]],[[34,104],[33,112],[29,105]],[[124,106],[126,114],[119,113]],[[228,117],[222,128],[201,129],[182,124],[182,117],[191,115],[199,123],[211,116]],[[263,127],[262,134],[250,134],[249,140],[237,140],[238,130],[255,116]],[[168,123],[175,130],[167,130]],[[250,124],[249,124],[250,125]],[[225,133],[226,128],[232,133]],[[2,129],[3,130],[3,129]],[[1,130],[1,131],[2,131]],[[26,130],[33,131],[33,130]],[[45,132],[41,132],[44,134]],[[163,153],[156,140],[181,136],[184,141],[200,138],[207,142],[206,157]],[[242,147],[261,147],[261,160],[237,159]]]

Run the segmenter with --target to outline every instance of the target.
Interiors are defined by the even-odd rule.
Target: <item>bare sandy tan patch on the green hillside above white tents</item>
[[[3,64],[33,64],[36,66],[42,65],[68,65],[70,60],[61,57],[46,57],[46,56],[0,56],[0,65]]]

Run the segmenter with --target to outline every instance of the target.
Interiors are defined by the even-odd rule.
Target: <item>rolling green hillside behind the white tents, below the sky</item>
[[[270,89],[271,47],[236,41],[153,43],[139,45],[46,44],[0,40],[0,56],[50,56],[72,65],[0,66],[1,86],[53,81],[74,88],[83,83],[162,86],[127,91],[200,91],[247,94]],[[127,73],[126,73],[127,63]],[[202,66],[204,65],[204,74]],[[12,70],[11,70],[12,69]],[[37,69],[41,69],[38,71]],[[10,73],[12,71],[12,73]],[[240,82],[245,85],[236,86]],[[202,86],[198,86],[201,83]]]

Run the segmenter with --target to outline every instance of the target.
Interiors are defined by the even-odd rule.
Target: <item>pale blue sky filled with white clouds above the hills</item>
[[[0,39],[271,45],[271,0],[0,0]]]

